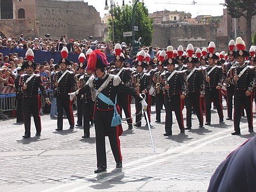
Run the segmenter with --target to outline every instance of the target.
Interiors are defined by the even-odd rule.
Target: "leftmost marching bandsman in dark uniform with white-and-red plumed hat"
[[[23,62],[22,69],[26,69],[26,74],[20,77],[19,86],[23,93],[23,113],[24,113],[24,126],[25,134],[23,138],[30,138],[30,126],[31,126],[31,113],[34,118],[35,129],[37,133],[35,136],[41,136],[41,118],[39,110],[41,108],[41,98],[38,95],[38,88],[40,88],[42,95],[45,98],[47,104],[51,104],[48,98],[47,91],[45,90],[40,75],[34,74],[34,70],[37,65],[33,62],[34,53],[32,49],[28,49],[26,52],[27,61]]]

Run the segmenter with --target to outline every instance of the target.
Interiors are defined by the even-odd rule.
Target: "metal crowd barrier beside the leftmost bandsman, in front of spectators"
[[[41,94],[41,91],[38,91],[41,97],[41,109],[45,106],[44,97]],[[51,100],[51,95],[53,95],[53,91],[51,89],[47,90],[49,99]],[[5,117],[9,119],[8,116],[5,115],[5,112],[13,111],[17,109],[17,101],[16,101],[16,93],[15,88],[3,86],[0,90],[0,117]]]

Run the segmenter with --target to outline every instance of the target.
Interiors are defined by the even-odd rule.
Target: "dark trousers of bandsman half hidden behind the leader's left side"
[[[83,99],[84,136],[90,136],[90,120],[94,113],[94,101],[91,98]]]

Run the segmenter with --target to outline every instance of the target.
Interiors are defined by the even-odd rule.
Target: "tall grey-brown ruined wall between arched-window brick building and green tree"
[[[95,37],[94,24],[101,24],[97,10],[83,1],[35,0],[35,9],[41,37],[88,39]]]

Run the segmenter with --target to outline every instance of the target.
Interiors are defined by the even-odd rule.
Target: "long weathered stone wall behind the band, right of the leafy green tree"
[[[152,45],[167,47],[168,38],[173,48],[193,44],[195,48],[208,47],[208,43],[215,41],[215,27],[213,24],[154,24]],[[218,47],[218,45],[216,45]]]

